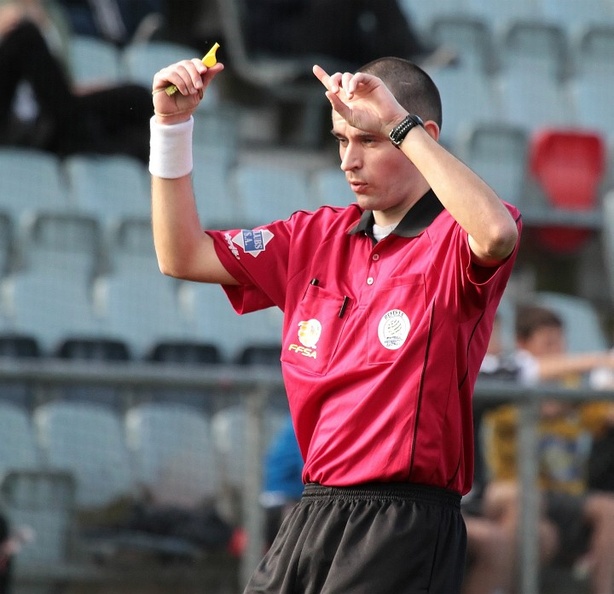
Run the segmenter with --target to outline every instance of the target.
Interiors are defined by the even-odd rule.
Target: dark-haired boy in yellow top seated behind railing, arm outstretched
[[[614,354],[566,353],[562,320],[540,306],[517,312],[515,361],[526,384],[578,385],[582,375],[612,369]],[[614,494],[589,491],[585,482],[590,438],[614,425],[608,402],[573,404],[544,400],[539,423],[539,526],[543,562],[556,560],[590,574],[592,591],[614,589]],[[515,535],[519,521],[517,407],[503,405],[484,415],[485,456],[491,482],[485,517]]]

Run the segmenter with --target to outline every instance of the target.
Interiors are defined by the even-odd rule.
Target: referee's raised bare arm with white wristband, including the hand
[[[151,207],[154,245],[160,270],[177,278],[236,284],[222,266],[213,240],[202,229],[192,189],[192,113],[223,70],[200,60],[164,68],[153,80],[151,122]],[[165,89],[174,84],[178,92]]]

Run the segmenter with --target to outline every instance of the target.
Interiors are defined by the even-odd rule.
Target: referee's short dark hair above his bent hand
[[[433,79],[418,65],[403,58],[378,58],[359,72],[381,78],[396,100],[424,121],[433,120],[441,128],[441,96]]]

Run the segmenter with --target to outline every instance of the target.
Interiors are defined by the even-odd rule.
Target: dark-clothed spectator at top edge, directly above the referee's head
[[[355,71],[382,56],[447,66],[448,48],[424,41],[398,0],[247,0],[249,45],[284,56],[317,55]],[[328,60],[327,60],[328,59]]]

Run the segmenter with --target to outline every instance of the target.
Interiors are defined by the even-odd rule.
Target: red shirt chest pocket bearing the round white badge
[[[388,279],[367,310],[367,362],[391,363],[407,348],[426,349],[425,309],[423,275]]]

